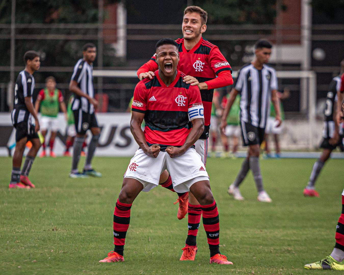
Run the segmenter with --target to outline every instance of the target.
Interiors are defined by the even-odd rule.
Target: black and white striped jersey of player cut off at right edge
[[[329,91],[327,92],[323,126],[323,137],[325,139],[333,137],[334,134],[335,125],[333,121],[333,110],[337,102],[337,91],[339,91],[341,87],[341,82],[341,76],[334,77],[330,83]],[[343,134],[343,125],[340,125],[339,132]]]

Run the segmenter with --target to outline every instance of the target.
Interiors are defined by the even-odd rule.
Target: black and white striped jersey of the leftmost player
[[[13,110],[11,113],[12,124],[26,121],[31,117],[28,108],[25,105],[25,97],[31,97],[35,88],[35,79],[31,74],[22,70],[14,86]],[[31,119],[30,119],[31,120]]]

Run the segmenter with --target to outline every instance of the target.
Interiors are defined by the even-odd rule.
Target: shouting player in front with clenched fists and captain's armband
[[[203,104],[197,86],[183,82],[179,45],[162,39],[156,45],[159,70],[134,90],[130,129],[140,148],[130,160],[114,212],[115,249],[100,262],[122,262],[130,208],[141,191],[159,185],[168,169],[176,192],[190,192],[200,202],[210,249],[210,263],[232,264],[219,253],[219,218],[205,166],[194,149],[204,130]],[[196,82],[197,83],[197,82]],[[146,122],[144,132],[142,121]],[[185,249],[186,250],[186,249]],[[197,251],[197,249],[196,249]]]

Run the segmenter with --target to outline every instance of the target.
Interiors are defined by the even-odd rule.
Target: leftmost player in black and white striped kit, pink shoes
[[[14,102],[11,113],[12,124],[15,128],[15,150],[12,159],[12,174],[9,188],[34,188],[28,176],[41,147],[37,132],[40,130],[37,113],[32,104],[32,93],[35,79],[32,74],[40,68],[40,56],[34,51],[24,54],[25,69],[22,70],[14,88]],[[35,120],[33,124],[32,118]],[[26,155],[22,170],[20,170],[25,144],[31,141],[32,147]]]

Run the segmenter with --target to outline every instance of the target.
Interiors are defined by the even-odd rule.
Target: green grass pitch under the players
[[[220,214],[221,252],[233,266],[209,264],[203,225],[194,262],[180,262],[187,219],[176,219],[175,193],[157,187],[131,208],[125,262],[101,264],[113,250],[112,219],[129,158],[96,157],[103,178],[70,179],[70,158],[37,158],[35,189],[8,189],[11,158],[0,158],[0,274],[320,274],[303,265],[329,255],[341,212],[343,160],[330,160],[305,198],[314,159],[261,161],[272,203],[258,202],[251,174],[234,201],[227,188],[243,159],[209,158]],[[80,165],[84,162],[81,159]]]

